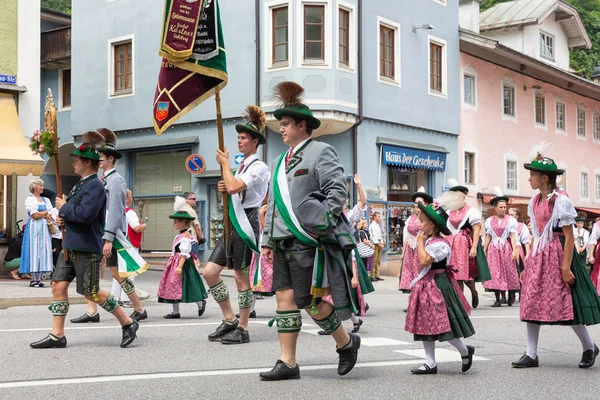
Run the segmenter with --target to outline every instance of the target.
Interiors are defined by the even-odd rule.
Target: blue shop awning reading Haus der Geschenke
[[[383,146],[382,158],[386,165],[430,171],[446,170],[448,151],[443,147],[382,138],[377,138],[377,143]]]

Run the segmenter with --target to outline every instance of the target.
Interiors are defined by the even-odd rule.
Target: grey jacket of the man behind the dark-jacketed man
[[[125,217],[125,179],[116,171],[111,171],[104,177],[106,189],[106,225],[102,239],[112,242],[120,230],[127,233],[127,219]]]

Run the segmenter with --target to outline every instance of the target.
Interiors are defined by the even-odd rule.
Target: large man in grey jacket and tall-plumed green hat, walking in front
[[[303,93],[295,82],[275,87],[283,108],[274,116],[290,149],[272,169],[261,242],[263,256],[273,264],[281,347],[273,369],[260,373],[263,380],[300,378],[296,343],[302,327],[301,309],[331,333],[339,354],[339,375],[354,368],[360,348],[360,337],[346,333],[340,322],[357,312],[350,283],[355,244],[342,213],[348,197],[346,176],[335,149],[311,139],[321,122],[301,102]],[[331,294],[335,309],[320,301],[326,294]]]

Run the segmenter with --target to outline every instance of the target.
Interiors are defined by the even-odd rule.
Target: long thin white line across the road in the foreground
[[[401,365],[421,364],[423,360],[395,360],[395,361],[373,361],[357,363],[355,368],[374,368],[374,367],[395,367]],[[437,361],[442,363],[445,361]],[[321,371],[328,369],[337,369],[337,364],[324,365],[302,365],[302,371]],[[37,386],[55,386],[55,385],[75,385],[75,384],[90,384],[90,383],[105,383],[105,382],[123,382],[123,381],[148,381],[158,379],[177,379],[177,378],[197,378],[205,376],[227,376],[227,375],[248,375],[258,374],[259,372],[269,371],[271,367],[262,368],[245,368],[245,369],[230,369],[230,370],[213,370],[213,371],[188,371],[188,372],[162,372],[154,374],[136,374],[136,375],[111,375],[111,376],[91,376],[82,378],[68,379],[47,379],[34,381],[20,382],[3,382],[0,383],[0,389],[37,387]]]

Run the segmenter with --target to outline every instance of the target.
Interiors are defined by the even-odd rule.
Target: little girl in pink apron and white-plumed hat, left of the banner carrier
[[[175,197],[175,213],[169,215],[173,220],[173,227],[179,233],[173,240],[171,257],[167,261],[158,285],[158,302],[173,305],[173,311],[164,316],[166,319],[181,317],[179,303],[196,303],[198,316],[201,317],[206,309],[204,299],[208,297],[202,278],[192,260],[195,257],[192,252],[193,238],[188,230],[194,217],[187,211],[181,211],[184,205],[183,197]]]

